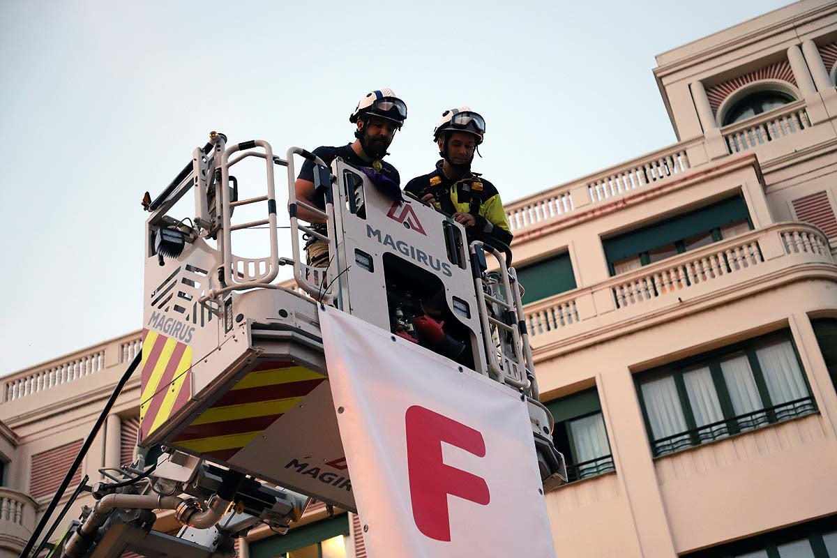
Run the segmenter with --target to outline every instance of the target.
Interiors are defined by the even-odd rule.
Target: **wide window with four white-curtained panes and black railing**
[[[655,457],[816,411],[787,330],[646,372],[637,392]]]

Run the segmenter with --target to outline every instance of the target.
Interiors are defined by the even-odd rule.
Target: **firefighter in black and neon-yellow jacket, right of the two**
[[[408,182],[404,191],[448,213],[465,226],[470,238],[508,246],[511,230],[500,194],[470,170],[484,135],[485,119],[467,106],[445,110],[433,132],[442,160],[433,172]]]

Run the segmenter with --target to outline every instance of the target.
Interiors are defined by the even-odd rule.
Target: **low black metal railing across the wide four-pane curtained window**
[[[803,417],[817,412],[817,404],[813,397],[803,397],[747,412],[737,417],[725,418],[722,421],[712,422],[705,426],[697,427],[686,432],[676,433],[665,438],[654,440],[651,447],[655,457],[675,453],[681,449],[694,448],[702,443],[714,442],[721,438],[728,438],[733,434],[745,433],[756,428],[790,420],[791,418]],[[568,468],[567,468],[568,470]]]

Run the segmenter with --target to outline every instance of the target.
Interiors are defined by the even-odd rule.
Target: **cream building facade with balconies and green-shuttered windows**
[[[674,146],[506,207],[572,481],[546,495],[553,540],[837,558],[837,3],[657,64]],[[3,378],[0,552],[22,550],[138,349],[136,332]],[[134,378],[80,475],[130,461],[138,399]],[[239,552],[365,555],[357,517],[315,506],[303,523]]]

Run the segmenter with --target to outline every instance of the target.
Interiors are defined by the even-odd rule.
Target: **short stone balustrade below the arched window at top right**
[[[721,135],[727,142],[727,151],[732,155],[781,140],[810,127],[811,120],[805,110],[805,101],[799,100],[755,118],[727,125],[721,128]]]

